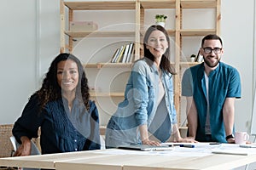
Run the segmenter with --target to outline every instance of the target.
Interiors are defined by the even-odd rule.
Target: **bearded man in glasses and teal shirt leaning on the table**
[[[235,99],[241,98],[238,71],[223,62],[223,43],[217,35],[201,41],[204,62],[183,74],[189,137],[200,142],[234,143]]]

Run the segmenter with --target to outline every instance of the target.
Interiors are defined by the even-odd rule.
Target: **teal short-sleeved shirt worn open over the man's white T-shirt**
[[[206,139],[207,87],[204,77],[204,64],[195,65],[183,74],[182,95],[193,96],[198,114],[198,127],[195,139]],[[226,98],[241,98],[241,81],[238,71],[222,62],[208,76],[210,125],[212,140],[226,143],[223,106]]]

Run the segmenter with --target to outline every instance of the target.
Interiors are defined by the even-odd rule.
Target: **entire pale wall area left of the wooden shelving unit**
[[[59,1],[1,3],[0,123],[14,123],[59,52]]]

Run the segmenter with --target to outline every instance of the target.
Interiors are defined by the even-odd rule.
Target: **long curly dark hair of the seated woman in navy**
[[[40,88],[35,94],[38,95],[40,108],[44,109],[45,105],[56,99],[61,99],[61,87],[57,82],[57,65],[61,61],[72,59],[77,65],[79,70],[79,83],[76,88],[76,96],[79,99],[82,99],[86,109],[90,110],[89,105],[89,87],[88,80],[85,76],[84,67],[81,64],[80,60],[75,57],[73,54],[62,53],[59,54],[50,64],[49,71],[45,74],[44,82],[42,88]]]

